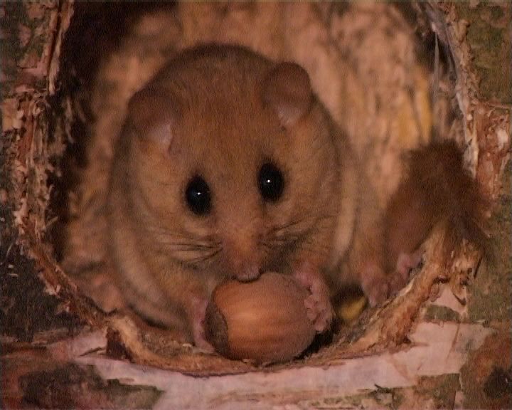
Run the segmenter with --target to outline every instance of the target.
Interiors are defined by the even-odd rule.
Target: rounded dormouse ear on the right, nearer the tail
[[[265,78],[263,100],[274,108],[283,127],[294,125],[309,110],[312,96],[309,75],[298,64],[279,63]]]

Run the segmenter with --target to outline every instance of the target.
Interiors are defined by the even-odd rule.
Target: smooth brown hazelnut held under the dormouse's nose
[[[294,278],[274,272],[249,283],[223,283],[215,288],[206,310],[206,339],[231,359],[293,359],[316,333],[304,306],[308,295]]]

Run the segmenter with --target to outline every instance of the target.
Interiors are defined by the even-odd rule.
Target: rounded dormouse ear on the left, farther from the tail
[[[169,148],[180,115],[178,101],[161,86],[143,88],[128,103],[128,118],[138,137],[166,148]]]

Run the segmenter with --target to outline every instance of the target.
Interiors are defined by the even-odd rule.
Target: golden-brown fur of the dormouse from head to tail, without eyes
[[[474,184],[448,145],[412,154],[409,179],[383,214],[297,65],[235,46],[196,48],[170,61],[128,111],[110,181],[112,256],[128,303],[180,340],[208,347],[204,309],[225,278],[294,275],[311,291],[305,304],[321,332],[331,321],[329,293],[341,284],[360,283],[373,305],[396,290],[390,283],[403,285],[440,215],[477,230],[466,224]],[[284,176],[275,202],[263,201],[257,185],[269,161]],[[447,164],[440,175],[439,161]],[[460,174],[458,184],[445,188],[450,174]],[[195,175],[210,187],[206,215],[186,204]],[[430,200],[432,191],[439,195]]]

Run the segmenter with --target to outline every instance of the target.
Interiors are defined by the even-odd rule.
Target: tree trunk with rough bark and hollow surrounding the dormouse
[[[508,2],[23,1],[1,4],[0,15],[3,408],[512,407]],[[112,140],[97,135],[117,134],[129,95],[166,58],[205,41],[304,65],[347,124],[383,203],[400,171],[383,167],[383,157],[400,164],[403,150],[428,142],[432,130],[465,142],[466,165],[489,198],[484,258],[463,243],[442,265],[443,232],[434,230],[425,266],[397,298],[286,364],[203,354],[129,315],[105,313],[110,299],[84,295],[110,289],[94,210]],[[427,63],[409,58],[418,43]],[[401,83],[392,82],[397,73]],[[115,92],[98,97],[109,86]],[[393,102],[371,113],[385,93]]]

